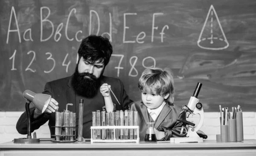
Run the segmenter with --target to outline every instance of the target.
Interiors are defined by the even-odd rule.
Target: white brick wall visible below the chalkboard
[[[23,112],[0,112],[0,143],[10,142],[15,138],[25,138],[16,130],[16,123]],[[201,130],[207,134],[209,140],[216,139],[220,133],[219,112],[204,113],[204,125]],[[256,112],[244,112],[244,139],[256,139]],[[49,138],[48,122],[35,131],[38,138]]]

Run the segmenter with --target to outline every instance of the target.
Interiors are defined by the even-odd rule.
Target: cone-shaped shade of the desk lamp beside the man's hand
[[[47,94],[36,94],[30,90],[25,90],[23,92],[23,97],[26,98],[28,101],[33,102],[34,106],[41,112],[47,109],[52,96]]]

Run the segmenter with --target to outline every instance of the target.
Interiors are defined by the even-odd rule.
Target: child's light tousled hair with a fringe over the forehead
[[[164,97],[170,94],[166,101],[174,102],[174,79],[169,68],[147,68],[143,71],[138,87],[140,90],[151,92]]]

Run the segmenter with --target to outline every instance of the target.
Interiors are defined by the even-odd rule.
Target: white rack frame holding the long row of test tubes
[[[91,126],[91,143],[93,142],[140,142],[139,138],[139,126]],[[94,129],[100,129],[100,130],[114,130],[114,139],[109,140],[109,139],[93,139],[93,130]],[[116,139],[116,130],[121,130],[121,129],[134,129],[137,130],[137,139]]]

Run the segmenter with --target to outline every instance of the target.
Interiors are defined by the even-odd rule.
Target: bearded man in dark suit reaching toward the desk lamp
[[[118,78],[103,75],[104,69],[111,58],[112,51],[108,38],[96,35],[84,38],[78,50],[79,59],[74,74],[70,77],[46,83],[43,93],[51,95],[52,99],[45,113],[41,113],[35,107],[30,108],[31,132],[37,130],[49,120],[48,125],[51,136],[55,135],[55,127],[52,127],[55,126],[55,111],[59,110],[62,112],[66,109],[66,104],[68,103],[73,104],[68,110],[76,113],[76,126],[78,126],[79,99],[83,99],[83,137],[90,138],[92,112],[102,110],[105,107],[104,97],[100,92],[100,86],[104,83],[111,85],[111,90],[113,90],[120,103],[119,105],[116,99],[112,97],[113,103],[116,104],[115,109],[125,110],[132,101],[126,94],[122,81]],[[24,112],[17,121],[16,129],[20,134],[27,133],[26,118],[27,115]],[[77,134],[78,128],[76,128]]]

